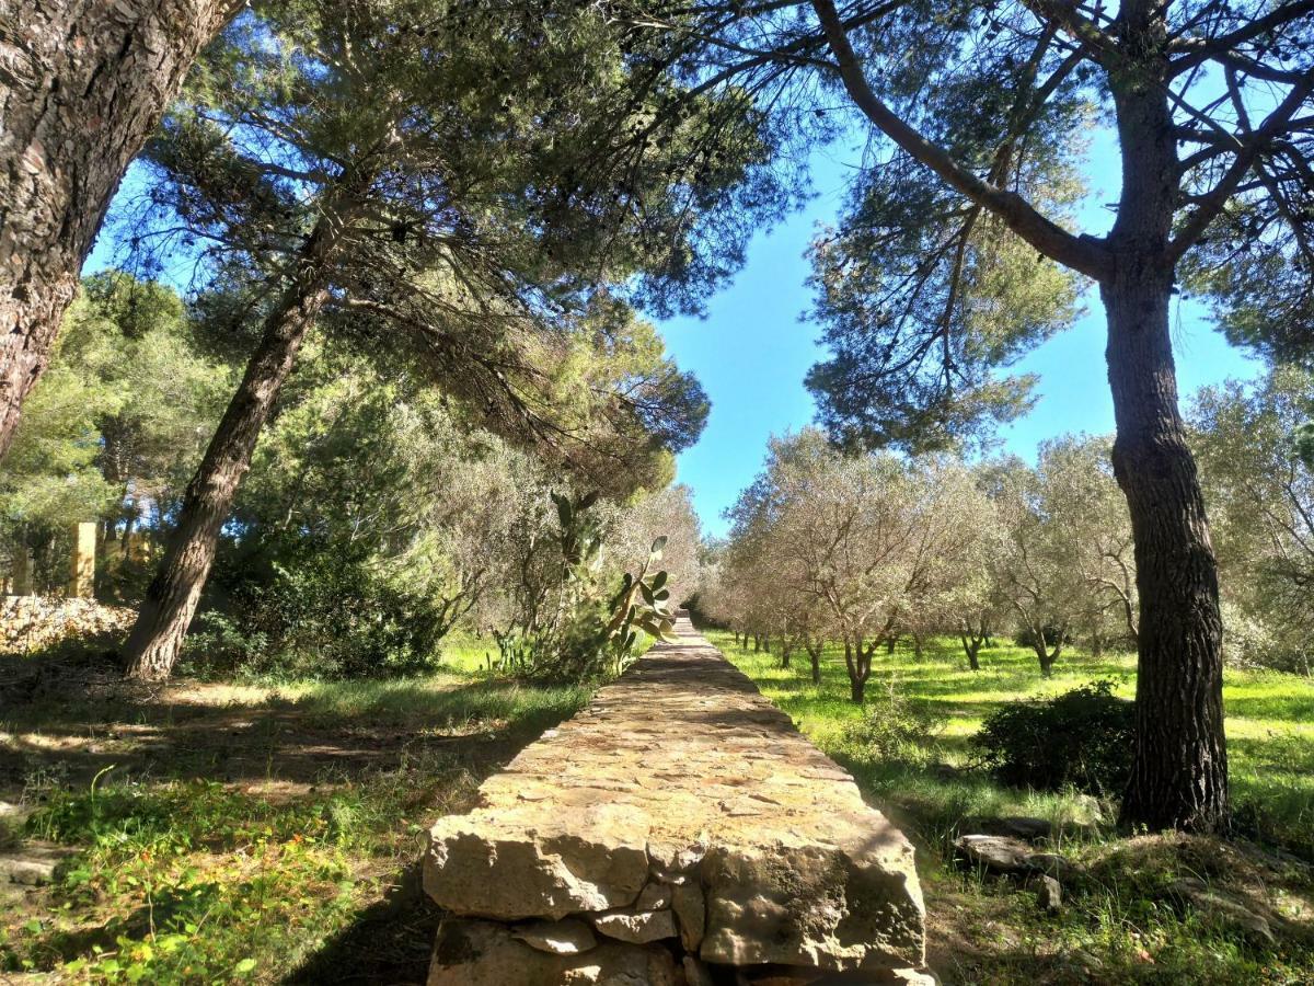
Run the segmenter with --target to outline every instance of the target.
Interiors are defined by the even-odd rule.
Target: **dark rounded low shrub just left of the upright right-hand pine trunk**
[[[1121,794],[1131,768],[1134,705],[1092,681],[1054,698],[1009,702],[972,736],[980,763],[1017,787]]]

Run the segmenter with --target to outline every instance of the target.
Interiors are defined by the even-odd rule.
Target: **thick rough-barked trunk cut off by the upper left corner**
[[[129,162],[233,0],[0,0],[0,458]]]

